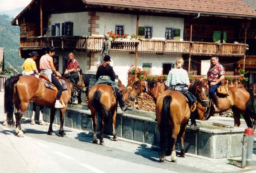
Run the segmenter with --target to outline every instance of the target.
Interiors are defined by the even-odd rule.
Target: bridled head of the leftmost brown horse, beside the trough
[[[74,86],[78,88],[80,92],[86,91],[86,87],[84,85],[84,76],[82,71],[68,73],[64,75],[63,78],[67,79],[69,82],[74,84]]]

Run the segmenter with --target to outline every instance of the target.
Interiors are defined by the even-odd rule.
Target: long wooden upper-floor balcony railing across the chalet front
[[[60,49],[84,49],[99,51],[104,39],[97,36],[42,36],[20,38],[21,49],[37,49],[53,46]],[[111,41],[112,51],[136,51],[141,53],[179,53],[192,55],[232,55],[243,56],[244,44],[188,42],[188,41],[166,41],[152,39],[116,39]],[[191,47],[191,50],[189,50]]]

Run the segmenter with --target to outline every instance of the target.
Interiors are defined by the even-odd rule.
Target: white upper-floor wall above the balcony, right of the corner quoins
[[[97,12],[97,15],[99,15],[99,28],[96,31],[99,35],[103,36],[105,25],[105,34],[109,31],[114,32],[116,25],[124,25],[124,33],[129,36],[136,33],[137,15],[105,12]],[[139,15],[139,26],[152,26],[152,39],[165,39],[166,27],[180,29],[180,41],[183,41],[184,18]]]

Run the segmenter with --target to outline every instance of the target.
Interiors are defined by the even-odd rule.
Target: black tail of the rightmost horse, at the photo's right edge
[[[250,94],[250,98],[246,103],[245,116],[251,117],[252,128],[255,130],[256,112],[255,112],[255,107],[254,107],[254,97],[253,97],[253,93],[250,90],[246,89],[246,91]]]

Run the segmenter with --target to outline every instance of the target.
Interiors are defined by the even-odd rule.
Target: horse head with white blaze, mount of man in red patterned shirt
[[[208,105],[208,89],[206,88],[204,82],[200,80],[192,82],[192,84],[189,86],[188,91],[195,95],[197,101],[199,101],[199,103],[201,103],[203,107],[206,107]]]

